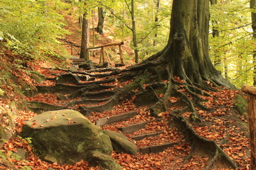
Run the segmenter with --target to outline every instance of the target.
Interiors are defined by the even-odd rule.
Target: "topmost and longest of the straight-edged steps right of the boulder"
[[[129,118],[132,118],[135,115],[137,115],[137,111],[123,113],[123,114],[120,114],[120,115],[113,115],[113,116],[110,116],[110,117],[107,117],[107,118],[101,118],[99,120],[96,120],[96,125],[97,126],[103,126],[103,125],[107,125],[107,124],[110,124],[110,123],[117,123],[119,121],[127,120]]]

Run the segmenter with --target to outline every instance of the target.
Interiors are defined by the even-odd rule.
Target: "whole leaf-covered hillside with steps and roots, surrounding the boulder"
[[[78,18],[68,15],[65,19],[65,28],[70,35],[61,38],[63,43],[79,45]],[[92,36],[92,28],[90,30]],[[106,30],[105,35],[96,34],[95,45],[120,41],[110,38],[108,32],[111,28]],[[0,43],[0,132],[4,139],[1,169],[102,169],[86,161],[74,165],[49,163],[33,153],[29,137],[20,137],[26,120],[60,108],[80,111],[95,125],[108,120],[109,123],[99,125],[100,130],[122,132],[136,145],[139,151],[136,155],[117,150],[110,154],[122,169],[234,169],[235,166],[250,169],[246,96],[240,91],[207,82],[208,89],[200,89],[204,95],[198,94],[201,105],[195,102],[200,121],[191,120],[193,112],[183,110],[187,104],[182,100],[185,96],[169,97],[171,107],[168,111],[153,115],[151,106],[165,97],[164,90],[170,84],[166,77],[159,81],[158,72],[154,72],[154,69],[161,72],[163,68],[159,65],[150,63],[152,65],[114,68],[112,66],[119,58],[115,55],[117,51],[110,48],[107,50],[112,56],[110,68],[74,69],[76,67],[64,57],[35,59],[18,55],[15,50],[5,47],[4,41]],[[133,64],[129,40],[124,41],[123,49],[126,64]],[[66,50],[70,52],[69,45]],[[97,52],[90,58],[92,62],[99,62]],[[60,82],[61,76],[70,74],[77,81],[68,77],[65,82]],[[146,76],[139,77],[146,74],[158,79],[149,81]],[[171,83],[178,84],[177,91],[186,94],[187,98],[196,98],[180,77],[174,75]],[[51,118],[46,123],[54,120]],[[67,122],[75,124],[72,120]]]

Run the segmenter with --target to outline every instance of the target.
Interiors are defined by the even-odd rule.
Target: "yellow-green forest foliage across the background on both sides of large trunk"
[[[250,8],[250,1],[214,2],[210,5],[210,58],[223,77],[236,86],[253,84],[256,45],[251,13],[255,9]],[[56,52],[56,47],[59,50],[62,47],[58,38],[68,34],[65,15],[79,18],[81,13],[87,11],[87,17],[92,18],[97,14],[97,8],[102,7],[105,32],[114,39],[127,40],[132,49],[139,51],[139,61],[142,61],[165,47],[172,1],[134,1],[136,47],[132,42],[131,3],[108,0],[87,1],[87,4],[85,1],[3,0],[0,2],[0,39],[8,39],[9,45],[18,52],[33,54],[34,57]],[[74,11],[74,6],[79,10]]]

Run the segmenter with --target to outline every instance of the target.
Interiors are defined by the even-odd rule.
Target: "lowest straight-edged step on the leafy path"
[[[150,153],[157,153],[157,152],[162,152],[164,149],[168,147],[173,147],[177,143],[166,143],[162,145],[153,145],[149,147],[142,147],[138,149],[138,152],[142,152],[142,154],[150,154]]]

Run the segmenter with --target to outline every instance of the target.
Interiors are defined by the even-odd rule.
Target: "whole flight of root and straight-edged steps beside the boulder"
[[[28,106],[31,106],[33,111],[52,111],[55,109],[73,108],[80,111],[80,113],[85,116],[90,116],[90,118],[93,118],[94,115],[97,115],[97,113],[111,111],[114,109],[114,106],[117,105],[117,103],[115,103],[113,100],[113,96],[117,93],[117,91],[119,91],[119,89],[114,86],[116,81],[116,79],[112,77],[112,75],[115,74],[114,72],[118,72],[117,69],[95,69],[88,72],[72,72],[71,74],[73,75],[74,79],[79,79],[78,83],[73,83],[73,81],[70,81],[73,79],[72,77],[70,78],[70,71],[63,70],[62,75],[68,73],[68,78],[62,76],[62,78],[64,78],[63,80],[60,80],[58,75],[58,77],[55,79],[51,78],[50,80],[55,82],[57,82],[57,80],[58,82],[66,81],[66,84],[56,83],[54,86],[37,86],[37,93],[56,94],[60,101],[72,101],[68,101],[68,103],[65,103],[64,106],[55,107],[53,103],[45,103],[47,106],[53,106],[48,106],[46,108],[43,108],[44,106],[42,102],[31,101],[28,103]],[[53,75],[56,74],[53,73]],[[95,81],[85,81],[85,77],[82,77],[81,75],[87,75],[90,78],[94,78]],[[122,125],[115,130],[117,132],[124,133],[124,135],[129,137],[129,139],[134,143],[145,139],[146,141],[149,141],[146,147],[137,147],[138,152],[141,152],[142,154],[162,152],[164,149],[176,145],[176,142],[164,142],[163,144],[159,145],[151,145],[150,140],[152,140],[154,137],[161,140],[159,135],[162,135],[163,132],[159,130],[155,130],[154,132],[143,132],[136,135],[136,132],[139,130],[143,131],[145,128],[150,129],[152,124],[149,123],[149,121],[139,120],[139,118],[136,118],[138,115],[139,112],[134,109],[134,111],[123,111],[117,115],[107,115],[104,118],[98,118],[97,120],[94,120],[94,123],[103,129],[107,129],[112,127],[114,124],[122,124],[122,122],[127,120],[136,119],[137,123],[133,123],[132,125]]]

